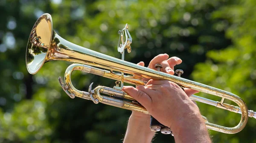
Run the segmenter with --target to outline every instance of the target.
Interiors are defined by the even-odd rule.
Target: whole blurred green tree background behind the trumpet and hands
[[[125,60],[149,61],[157,54],[180,57],[183,77],[239,95],[256,110],[255,0],[0,0],[0,142],[120,143],[131,111],[76,97],[58,77],[71,63],[26,70],[29,33],[43,13],[52,15],[64,39],[120,58],[117,31],[129,24],[132,51]],[[74,72],[77,89],[114,86],[114,81]],[[220,100],[199,93],[213,100]],[[230,103],[229,101],[226,101]],[[236,126],[240,115],[198,103],[210,122]],[[256,143],[256,120],[237,134],[210,131],[215,143]],[[154,143],[170,143],[157,134]]]

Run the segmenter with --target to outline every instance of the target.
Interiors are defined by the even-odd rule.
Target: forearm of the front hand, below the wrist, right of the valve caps
[[[176,143],[211,143],[204,120],[197,107],[185,114],[178,122],[171,127]]]

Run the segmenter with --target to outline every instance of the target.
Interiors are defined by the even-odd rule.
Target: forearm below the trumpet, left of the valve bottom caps
[[[124,143],[150,143],[154,137],[154,132],[150,130],[149,125],[150,115],[144,115],[144,117],[140,117],[131,114],[131,117],[128,121]]]

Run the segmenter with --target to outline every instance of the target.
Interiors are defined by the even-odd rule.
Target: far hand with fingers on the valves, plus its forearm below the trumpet
[[[159,54],[154,57],[149,63],[148,68],[156,69],[155,64],[161,64],[163,68],[161,72],[174,74],[174,66],[180,64],[182,60],[178,57],[169,58],[168,54]],[[140,66],[145,66],[144,62],[138,63]],[[143,78],[144,81],[149,79]],[[125,134],[124,143],[151,143],[151,140],[155,132],[152,132],[150,126],[150,115],[143,114],[142,112],[133,111],[127,126],[127,132]]]

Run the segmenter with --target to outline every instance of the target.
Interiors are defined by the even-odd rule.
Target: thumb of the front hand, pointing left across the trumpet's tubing
[[[140,86],[138,86],[138,87],[140,87]],[[142,86],[142,87],[144,87],[144,86]],[[128,95],[133,97],[146,109],[149,109],[151,107],[152,100],[151,100],[150,96],[148,96],[148,94],[146,94],[145,92],[138,90],[138,89],[134,88],[133,86],[124,86],[122,91],[126,92]]]

